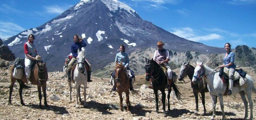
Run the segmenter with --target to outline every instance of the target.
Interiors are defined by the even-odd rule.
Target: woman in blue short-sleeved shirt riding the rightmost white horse
[[[235,73],[235,68],[236,65],[234,64],[235,61],[235,54],[230,51],[231,45],[230,43],[226,43],[224,46],[226,53],[224,53],[224,59],[223,59],[223,64],[220,66],[222,67],[227,67],[228,70],[228,78],[229,78],[229,90],[228,90],[228,95],[232,94],[232,88],[233,88],[233,78],[234,78],[234,73]]]

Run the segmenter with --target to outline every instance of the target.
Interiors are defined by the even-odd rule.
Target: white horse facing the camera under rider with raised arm
[[[84,65],[85,59],[84,59],[84,51],[85,49],[82,48],[82,51],[80,51],[78,49],[78,56],[77,58],[77,62],[78,64],[76,64],[76,67],[74,69],[74,82],[75,83],[75,87],[76,87],[76,107],[79,107],[78,104],[78,97],[79,97],[79,101],[82,103],[82,99],[81,99],[81,95],[80,95],[80,87],[81,85],[84,85],[84,107],[86,105],[86,88],[87,88],[87,72],[86,72],[86,68]],[[71,86],[71,81],[68,82],[68,86],[69,86],[69,91],[70,91],[70,100],[69,102],[71,102],[71,92],[72,92],[72,86]]]

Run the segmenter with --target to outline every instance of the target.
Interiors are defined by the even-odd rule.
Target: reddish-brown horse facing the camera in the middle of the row
[[[125,92],[127,111],[130,112],[130,107],[131,107],[130,100],[129,100],[130,81],[129,81],[128,75],[124,70],[124,66],[122,65],[122,62],[121,64],[116,63],[115,72],[116,72],[115,74],[116,87],[117,87],[117,91],[120,98],[120,104],[119,104],[120,109],[124,111],[122,92]]]

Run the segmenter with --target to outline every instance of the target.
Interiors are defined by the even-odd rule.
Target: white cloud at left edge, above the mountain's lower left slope
[[[0,38],[5,39],[24,31],[25,29],[12,22],[0,21]]]

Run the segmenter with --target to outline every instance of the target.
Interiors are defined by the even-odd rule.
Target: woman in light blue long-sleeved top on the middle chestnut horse
[[[130,60],[129,60],[128,54],[125,53],[125,48],[124,48],[124,45],[122,45],[122,44],[120,45],[119,50],[120,50],[120,52],[118,54],[116,54],[115,63],[118,62],[120,64],[122,62],[122,65],[124,66],[124,68],[126,68],[126,70],[132,74],[132,76],[130,76],[129,74],[128,74],[128,76],[129,76],[130,84],[131,84],[130,90],[133,90],[132,85],[134,83],[135,76],[134,76],[133,71],[129,68]],[[112,73],[113,78],[114,78],[114,76],[115,76],[115,71]],[[114,86],[112,88],[112,91],[116,91],[116,81],[114,81]]]

